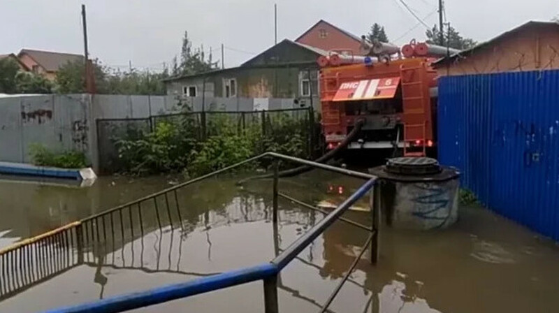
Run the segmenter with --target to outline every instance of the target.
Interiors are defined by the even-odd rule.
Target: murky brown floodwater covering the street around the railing
[[[257,265],[323,217],[280,198],[274,229],[270,181],[241,188],[237,180],[224,176],[179,189],[177,201],[170,200],[173,211],[163,211],[161,220],[154,208],[143,208],[143,236],[134,215],[125,227],[133,229],[126,240],[92,245],[83,263],[59,266],[49,279],[28,279],[16,292],[0,296],[0,312],[41,312]],[[1,182],[0,245],[176,181],[102,177],[89,189]],[[307,203],[339,203],[361,183],[313,171],[280,180],[279,191]],[[345,217],[370,224],[364,212]],[[282,271],[280,312],[318,312],[367,236],[342,221],[328,228]],[[331,312],[559,312],[559,247],[484,208],[460,208],[458,223],[444,231],[382,226],[380,238],[378,264],[371,265],[365,252]],[[135,312],[263,312],[262,282]]]

